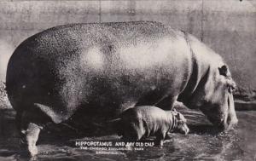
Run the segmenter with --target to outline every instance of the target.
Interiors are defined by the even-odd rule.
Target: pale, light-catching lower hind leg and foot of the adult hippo
[[[38,147],[36,146],[36,143],[41,129],[42,127],[37,124],[30,123],[27,125],[26,130],[21,130],[22,137],[20,139],[20,143],[22,144],[22,147],[25,147],[29,152],[31,157],[38,154]]]

